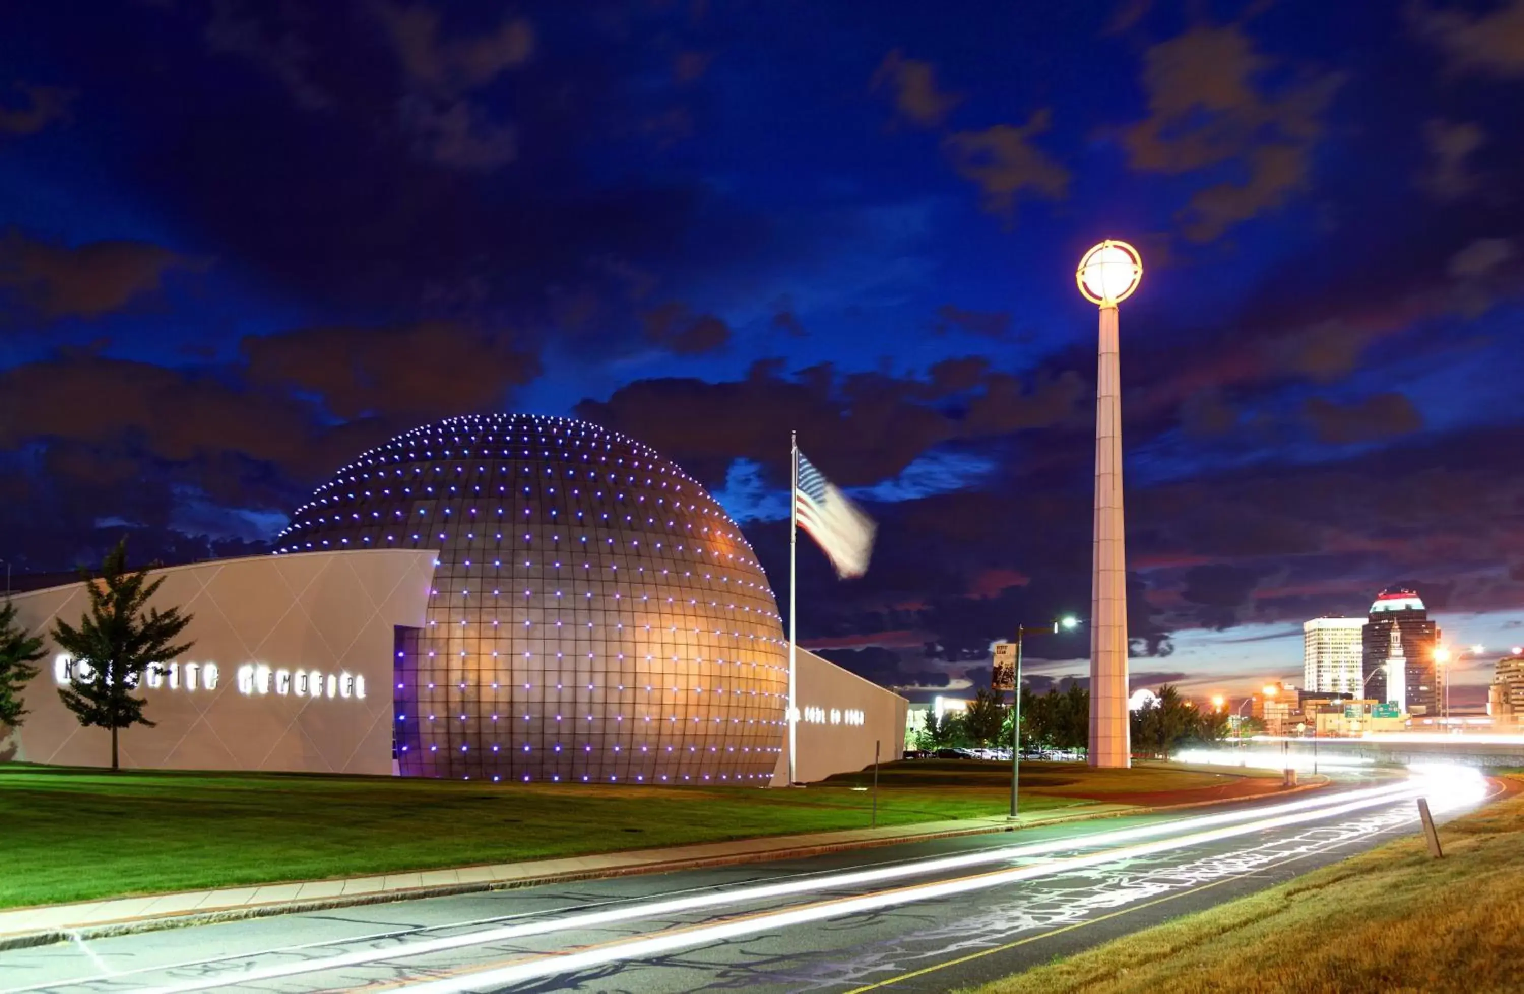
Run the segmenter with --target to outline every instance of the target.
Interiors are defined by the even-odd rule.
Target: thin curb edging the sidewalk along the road
[[[1294,793],[1305,793],[1326,787],[1329,778],[1318,782],[1298,784],[1289,790],[1265,793],[1257,798],[1224,798],[1219,801],[1192,801],[1189,804],[1169,804],[1146,808],[1126,808],[1120,811],[1096,811],[1064,814],[1050,819],[1027,822],[1026,825],[992,824],[974,828],[956,828],[948,831],[925,833],[917,836],[885,836],[882,839],[856,839],[844,842],[824,842],[789,849],[767,849],[753,852],[733,852],[727,855],[710,855],[686,860],[669,860],[663,863],[636,863],[610,869],[564,871],[558,874],[543,874],[539,877],[524,877],[520,880],[489,880],[480,883],[450,883],[427,887],[407,887],[386,890],[381,894],[355,894],[349,897],[335,895],[328,898],[311,898],[306,901],[274,901],[255,907],[229,907],[207,912],[171,912],[166,915],[149,915],[145,918],[123,918],[119,921],[84,926],[79,929],[47,929],[41,932],[18,932],[0,936],[0,953],[9,950],[35,948],[55,942],[110,939],[123,935],[145,932],[165,932],[169,929],[189,929],[194,926],[212,926],[226,921],[247,921],[251,918],[273,918],[276,915],[300,915],[305,912],[331,910],[337,907],[363,907],[367,904],[390,904],[393,901],[418,901],[424,898],[456,897],[462,894],[486,894],[491,890],[517,890],[521,887],[539,887],[555,883],[576,883],[582,880],[614,880],[619,877],[642,877],[646,874],[671,874],[686,869],[710,869],[715,866],[739,866],[745,863],[771,863],[776,860],[794,860],[828,852],[843,852],[847,849],[878,849],[893,845],[908,845],[913,842],[936,842],[939,839],[962,839],[965,836],[989,836],[995,833],[1015,833],[1023,828],[1047,828],[1049,825],[1064,825],[1068,822],[1091,822],[1106,817],[1132,817],[1137,814],[1161,814],[1167,811],[1184,811],[1190,808],[1215,807],[1221,804],[1239,804],[1245,801],[1263,801],[1266,798],[1285,798]]]

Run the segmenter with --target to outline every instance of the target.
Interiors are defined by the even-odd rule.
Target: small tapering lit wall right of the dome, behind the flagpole
[[[899,758],[908,700],[803,648],[797,665],[800,722],[794,775],[800,782],[872,766],[875,741],[882,763]],[[783,735],[773,785],[786,784],[788,735]]]

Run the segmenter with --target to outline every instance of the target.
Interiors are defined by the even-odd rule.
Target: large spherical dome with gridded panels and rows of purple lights
[[[437,550],[424,627],[396,636],[402,775],[773,775],[788,648],[762,566],[696,481],[617,432],[532,416],[413,429],[319,487],[276,546]]]

